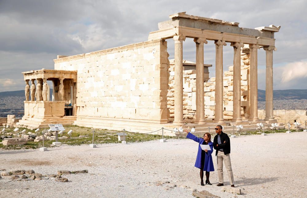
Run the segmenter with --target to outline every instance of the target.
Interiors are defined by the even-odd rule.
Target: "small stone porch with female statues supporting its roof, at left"
[[[29,127],[46,127],[51,123],[71,125],[76,119],[77,72],[41,69],[22,74],[26,84],[25,115],[17,125]],[[53,85],[51,101],[47,80],[52,81]]]

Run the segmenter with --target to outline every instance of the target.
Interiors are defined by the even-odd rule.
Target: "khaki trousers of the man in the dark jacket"
[[[230,184],[235,184],[235,181],[233,179],[233,175],[232,175],[232,169],[231,169],[231,161],[230,161],[230,154],[224,154],[224,152],[218,151],[217,153],[217,173],[219,176],[219,183],[223,184],[224,183],[224,179],[223,179],[223,161],[228,173],[228,177],[230,179]]]

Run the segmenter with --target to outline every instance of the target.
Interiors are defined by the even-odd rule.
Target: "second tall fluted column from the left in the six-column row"
[[[204,107],[204,43],[205,38],[194,38],[196,43],[196,120],[195,124],[205,123]]]

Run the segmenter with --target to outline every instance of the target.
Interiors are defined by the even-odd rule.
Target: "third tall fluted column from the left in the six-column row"
[[[215,43],[215,113],[214,122],[223,123],[223,46],[225,41],[217,40]]]

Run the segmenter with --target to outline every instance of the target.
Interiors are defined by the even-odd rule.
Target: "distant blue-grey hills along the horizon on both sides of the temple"
[[[52,95],[52,89],[50,89]],[[25,91],[4,91],[0,92],[0,98],[8,96],[22,96],[25,97]],[[307,89],[287,89],[287,90],[274,90],[274,100],[288,100],[288,99],[307,99]],[[258,101],[266,101],[266,91],[258,89]]]

